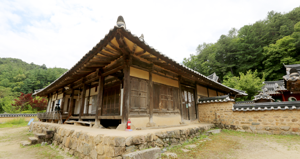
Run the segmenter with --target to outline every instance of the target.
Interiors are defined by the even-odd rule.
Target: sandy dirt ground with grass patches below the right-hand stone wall
[[[212,141],[195,141],[185,145],[196,144],[190,152],[183,152],[183,146],[167,152],[174,152],[179,159],[283,159],[300,158],[300,137],[286,135],[259,135],[245,132],[226,131],[209,136]],[[167,158],[162,156],[162,158]]]

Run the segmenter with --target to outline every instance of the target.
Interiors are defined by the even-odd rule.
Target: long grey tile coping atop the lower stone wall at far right
[[[264,110],[286,110],[300,109],[300,101],[291,102],[267,102],[253,104],[233,104],[232,111],[264,111]]]

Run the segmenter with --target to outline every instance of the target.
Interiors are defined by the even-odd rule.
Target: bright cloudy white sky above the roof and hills
[[[0,0],[0,57],[70,69],[122,15],[133,34],[143,33],[150,46],[182,62],[199,44],[216,42],[232,27],[299,6],[299,0]]]

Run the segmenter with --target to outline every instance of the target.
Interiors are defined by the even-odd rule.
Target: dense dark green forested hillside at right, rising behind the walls
[[[232,28],[215,43],[200,44],[183,64],[206,76],[216,72],[221,81],[248,70],[257,70],[261,78],[264,74],[266,81],[282,80],[283,63],[300,63],[299,21],[300,7],[268,12],[265,19]]]

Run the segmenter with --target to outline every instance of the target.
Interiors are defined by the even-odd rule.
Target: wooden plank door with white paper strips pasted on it
[[[182,98],[182,111],[183,119],[195,120],[196,115],[196,101],[194,89],[188,87],[181,87],[181,98]]]

